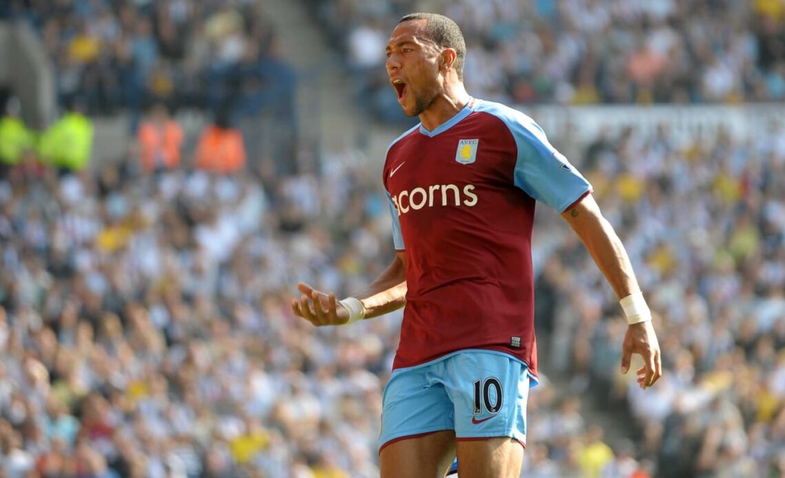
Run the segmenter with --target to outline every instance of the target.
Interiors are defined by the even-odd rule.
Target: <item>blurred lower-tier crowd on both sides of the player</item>
[[[529,403],[527,476],[785,471],[783,137],[780,126],[754,144],[722,133],[681,143],[663,127],[578,149],[663,317],[666,374],[643,393],[615,371],[626,327],[610,288],[557,215],[540,214],[542,361],[574,378],[576,396],[623,405],[641,440],[609,447],[582,418],[586,403],[544,377]],[[392,254],[363,161],[328,155],[323,170],[284,178],[268,162],[222,175],[188,162],[147,171],[138,158],[7,171],[9,476],[378,473],[400,314],[316,329],[288,305],[298,280],[347,294]]]

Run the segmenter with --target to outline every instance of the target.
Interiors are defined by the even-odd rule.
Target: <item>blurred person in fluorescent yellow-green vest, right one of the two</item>
[[[93,121],[85,115],[81,100],[72,100],[68,112],[42,133],[38,148],[42,161],[60,170],[79,171],[89,165]]]

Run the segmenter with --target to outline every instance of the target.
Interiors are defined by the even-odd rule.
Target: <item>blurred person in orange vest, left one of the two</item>
[[[183,130],[163,104],[155,104],[137,134],[139,159],[148,173],[170,170],[180,164]]]

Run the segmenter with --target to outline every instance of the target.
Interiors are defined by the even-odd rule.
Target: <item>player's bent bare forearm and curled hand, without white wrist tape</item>
[[[349,322],[349,310],[338,304],[335,294],[325,294],[308,284],[298,283],[300,300],[292,299],[295,315],[314,325],[341,325]],[[406,254],[396,252],[392,263],[365,290],[354,294],[360,300],[365,318],[383,316],[406,305]]]

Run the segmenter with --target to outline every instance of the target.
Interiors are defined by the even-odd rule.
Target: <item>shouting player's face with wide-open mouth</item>
[[[407,116],[417,116],[441,90],[440,49],[425,35],[425,20],[398,24],[387,42],[387,74]]]

